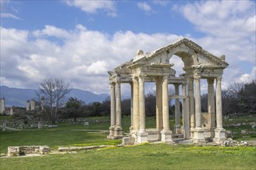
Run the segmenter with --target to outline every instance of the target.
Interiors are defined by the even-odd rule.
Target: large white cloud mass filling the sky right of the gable
[[[235,81],[254,78],[253,73],[241,68],[240,62],[255,66],[255,2],[202,1],[175,5],[172,10],[182,12],[185,19],[207,35],[192,40],[216,56],[226,55],[230,66],[224,70],[224,89]]]

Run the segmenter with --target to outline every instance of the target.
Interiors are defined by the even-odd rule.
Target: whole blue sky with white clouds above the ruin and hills
[[[147,53],[182,37],[226,55],[224,89],[255,79],[254,1],[0,2],[1,85],[38,88],[61,77],[71,87],[109,93],[108,70],[137,49]],[[181,59],[171,63],[182,72]]]

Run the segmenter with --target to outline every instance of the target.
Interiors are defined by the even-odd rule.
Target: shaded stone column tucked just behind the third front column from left
[[[189,96],[189,118],[190,118],[190,137],[194,138],[195,130],[195,98],[194,98],[194,80],[188,78],[188,96]]]

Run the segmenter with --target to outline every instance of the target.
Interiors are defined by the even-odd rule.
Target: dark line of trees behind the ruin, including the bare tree
[[[64,100],[67,93],[71,91],[68,83],[61,79],[46,79],[40,83],[39,92],[36,94],[38,100],[43,100],[43,106],[36,110],[35,116],[44,120],[57,123],[60,118],[109,116],[110,98],[100,102],[85,104],[84,101],[75,97]],[[171,92],[169,92],[171,93]],[[207,93],[201,96],[202,112],[206,112]],[[169,102],[170,114],[175,114],[175,106]],[[227,114],[256,114],[256,82],[233,83],[227,90],[222,90],[223,115]],[[122,116],[130,115],[131,100],[124,99],[121,103]],[[182,109],[182,103],[180,103]],[[145,95],[145,111],[147,116],[155,116],[156,94],[150,92]]]

